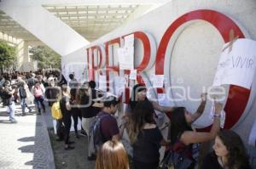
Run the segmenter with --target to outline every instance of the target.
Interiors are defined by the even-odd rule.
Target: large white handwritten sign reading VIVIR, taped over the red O
[[[212,86],[233,84],[250,89],[256,70],[256,41],[238,39],[232,46],[221,54]]]

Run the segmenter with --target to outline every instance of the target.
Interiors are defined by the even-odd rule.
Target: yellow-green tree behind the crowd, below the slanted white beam
[[[38,61],[38,68],[61,68],[61,55],[46,46],[32,47],[29,52],[32,54],[32,59]]]

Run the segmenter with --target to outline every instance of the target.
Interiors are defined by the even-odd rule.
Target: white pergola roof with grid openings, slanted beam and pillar
[[[1,0],[0,39],[13,37],[22,46],[18,67],[25,70],[29,45],[45,44],[64,56],[169,1]]]

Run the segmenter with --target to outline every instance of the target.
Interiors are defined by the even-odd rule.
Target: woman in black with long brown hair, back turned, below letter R
[[[153,104],[148,100],[137,103],[128,126],[135,168],[156,169],[160,161],[160,145],[168,143],[154,122]]]

